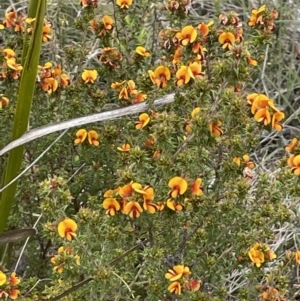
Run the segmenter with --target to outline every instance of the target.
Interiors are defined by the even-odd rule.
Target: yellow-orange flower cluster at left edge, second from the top
[[[23,70],[23,67],[17,63],[15,52],[10,48],[6,48],[2,53],[5,60],[3,61],[1,68],[2,70],[0,72],[0,79],[18,79],[20,77],[21,71]]]

